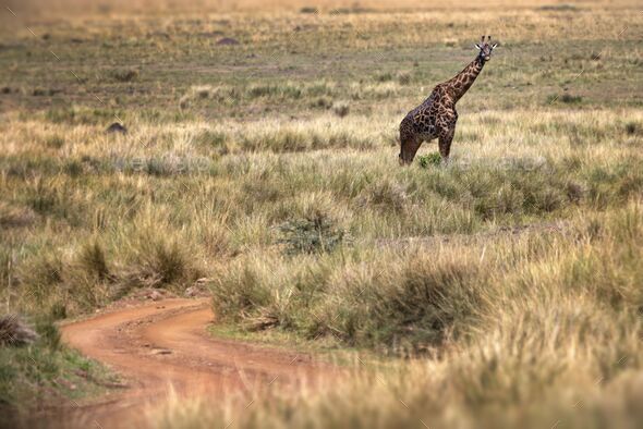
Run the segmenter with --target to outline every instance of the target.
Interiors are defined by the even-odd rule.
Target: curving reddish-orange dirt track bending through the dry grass
[[[208,299],[167,299],[63,326],[70,346],[118,371],[126,385],[98,403],[70,405],[60,424],[144,427],[144,410],[162,404],[170,392],[217,401],[311,383],[323,368],[330,369],[305,354],[214,339],[206,333],[213,319]]]

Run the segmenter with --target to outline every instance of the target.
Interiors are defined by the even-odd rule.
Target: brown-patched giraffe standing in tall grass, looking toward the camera
[[[492,36],[487,36],[486,41],[485,36],[482,36],[481,42],[475,44],[480,50],[475,59],[456,76],[438,84],[422,105],[407,114],[400,123],[400,164],[408,166],[413,162],[422,143],[436,137],[440,156],[445,163],[448,163],[458,122],[456,103],[471,88],[497,46],[498,44],[492,45]]]

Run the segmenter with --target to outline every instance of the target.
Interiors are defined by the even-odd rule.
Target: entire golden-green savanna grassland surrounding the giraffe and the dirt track
[[[220,331],[355,376],[160,426],[640,427],[640,5],[202,3],[1,12],[0,295],[40,333],[0,348],[2,407],[114,377],[57,320],[202,279]],[[483,34],[450,164],[400,168]]]

